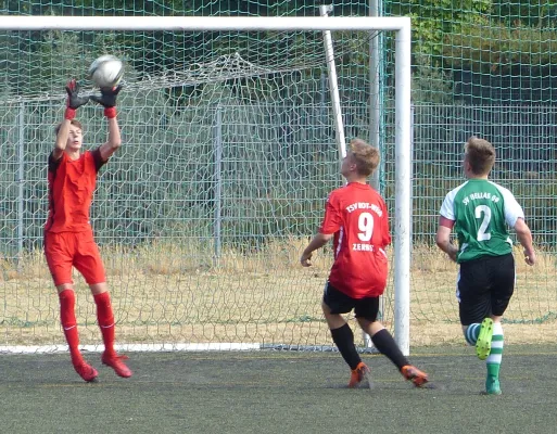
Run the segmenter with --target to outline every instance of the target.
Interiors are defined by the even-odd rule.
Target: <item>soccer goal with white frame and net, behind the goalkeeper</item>
[[[343,182],[324,30],[334,46],[343,133],[380,145],[388,167],[379,188],[394,247],[382,320],[407,353],[409,18],[318,16],[3,23],[0,345],[65,346],[41,250],[47,157],[66,80],[94,92],[88,65],[110,53],[126,65],[117,104],[123,146],[100,174],[91,222],[117,342],[139,349],[330,347],[320,298],[332,252],[319,252],[311,269],[299,264],[328,192]],[[379,38],[389,55],[377,51]],[[372,122],[377,110],[380,123]],[[105,141],[102,110],[90,103],[78,118],[86,149]],[[74,280],[80,341],[96,347],[94,304],[83,278]]]

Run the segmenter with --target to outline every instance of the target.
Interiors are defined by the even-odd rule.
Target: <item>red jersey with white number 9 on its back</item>
[[[387,285],[384,247],[391,243],[383,197],[371,187],[351,182],[329,194],[319,228],[334,234],[329,282],[352,298],[376,297]]]

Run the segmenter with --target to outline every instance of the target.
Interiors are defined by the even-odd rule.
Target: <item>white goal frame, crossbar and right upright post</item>
[[[409,354],[412,233],[410,18],[287,16],[15,16],[0,20],[2,30],[391,30],[395,33],[395,209],[394,334]]]

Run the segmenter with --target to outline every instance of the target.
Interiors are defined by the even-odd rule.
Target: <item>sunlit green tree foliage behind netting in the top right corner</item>
[[[477,73],[543,68],[557,54],[557,5],[544,0],[389,1],[413,18],[414,52]]]

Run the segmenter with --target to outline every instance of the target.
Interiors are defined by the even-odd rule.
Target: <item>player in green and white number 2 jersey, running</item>
[[[530,228],[512,193],[488,176],[495,149],[483,139],[466,142],[464,171],[468,180],[448,192],[441,206],[435,241],[460,265],[456,296],[466,341],[486,360],[485,392],[501,395],[503,356],[501,320],[515,291],[515,258],[507,227],[514,228],[524,247],[526,263],[535,263]],[[451,243],[455,228],[458,247]]]

